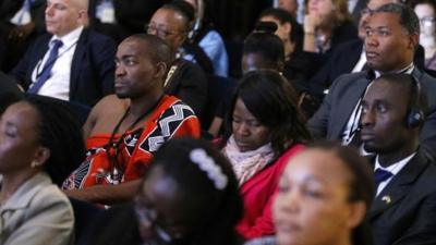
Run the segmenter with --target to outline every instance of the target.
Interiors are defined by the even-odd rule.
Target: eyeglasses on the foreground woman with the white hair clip
[[[156,231],[156,234],[161,238],[164,242],[171,242],[172,237],[169,232],[162,229],[158,222],[158,212],[155,209],[148,208],[141,197],[136,197],[134,199],[134,210],[136,213],[136,218],[142,222],[147,222],[150,224],[150,228]]]

